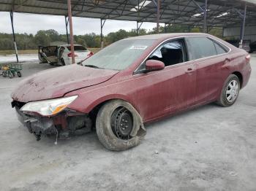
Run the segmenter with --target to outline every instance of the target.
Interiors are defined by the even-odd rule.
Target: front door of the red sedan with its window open
[[[136,74],[136,105],[144,121],[165,116],[195,103],[196,66],[187,62],[184,39],[162,44],[148,59],[165,63],[162,71]]]

